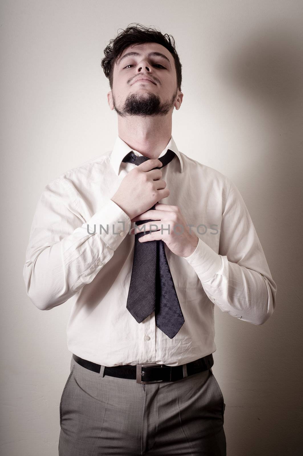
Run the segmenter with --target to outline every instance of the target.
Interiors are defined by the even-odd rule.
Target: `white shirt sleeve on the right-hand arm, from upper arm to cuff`
[[[275,309],[277,285],[243,198],[235,184],[229,183],[219,253],[199,238],[196,249],[185,259],[221,311],[261,325]]]

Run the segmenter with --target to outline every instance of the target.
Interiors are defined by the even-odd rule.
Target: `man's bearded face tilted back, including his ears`
[[[131,45],[115,63],[108,102],[118,114],[164,115],[179,109],[182,98],[174,59],[161,44]]]

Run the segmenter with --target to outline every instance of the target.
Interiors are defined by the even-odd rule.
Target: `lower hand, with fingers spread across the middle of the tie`
[[[150,223],[136,225],[135,228],[131,229],[131,234],[139,233],[139,229],[144,233],[144,228],[142,227],[145,225],[145,231],[150,232],[149,234],[141,236],[139,242],[162,239],[172,253],[181,257],[188,257],[191,255],[198,245],[198,236],[188,227],[178,206],[157,203],[155,209],[150,209],[137,215],[131,222],[136,222],[138,220],[154,220]],[[157,228],[154,225],[157,225]],[[169,231],[165,228],[169,228]],[[161,229],[163,234],[161,233]]]

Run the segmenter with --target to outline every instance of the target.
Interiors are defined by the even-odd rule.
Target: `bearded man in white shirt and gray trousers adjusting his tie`
[[[59,455],[226,455],[214,305],[261,325],[277,287],[235,185],[172,138],[173,38],[129,26],[102,67],[114,148],[45,187],[24,267],[39,309],[73,300]]]

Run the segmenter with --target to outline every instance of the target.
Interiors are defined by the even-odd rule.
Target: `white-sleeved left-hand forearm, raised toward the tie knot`
[[[100,224],[104,227],[101,234]],[[36,238],[33,235],[23,269],[26,292],[33,304],[41,310],[52,309],[90,283],[113,256],[130,224],[125,212],[110,201],[59,242],[47,242],[51,237],[45,236],[42,243],[37,240],[37,234]],[[123,228],[124,235],[120,236]]]

